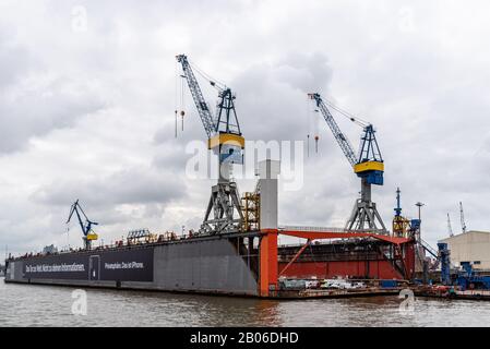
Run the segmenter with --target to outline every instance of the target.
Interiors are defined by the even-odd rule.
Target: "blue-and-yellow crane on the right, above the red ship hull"
[[[350,218],[347,220],[346,230],[350,231],[372,231],[387,234],[387,230],[377,209],[377,204],[371,201],[371,185],[383,185],[384,161],[381,156],[375,131],[371,123],[364,122],[334,106],[327,100],[323,100],[320,94],[309,94],[316,107],[323,115],[335,140],[344,152],[345,157],[354,168],[354,172],[361,179],[361,197],[354,205]],[[343,113],[350,121],[363,128],[359,155],[356,155],[347,137],[342,133],[338,124],[332,116],[328,107]]]

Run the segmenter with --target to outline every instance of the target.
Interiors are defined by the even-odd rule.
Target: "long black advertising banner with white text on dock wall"
[[[67,253],[24,261],[24,278],[153,281],[153,249]]]

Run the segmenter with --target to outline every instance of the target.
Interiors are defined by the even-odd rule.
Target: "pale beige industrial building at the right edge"
[[[440,242],[447,243],[452,265],[469,262],[476,270],[490,270],[490,232],[468,231]]]

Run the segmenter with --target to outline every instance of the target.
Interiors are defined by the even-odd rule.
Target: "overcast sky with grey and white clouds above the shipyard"
[[[106,243],[199,228],[213,180],[186,176],[186,145],[204,140],[188,92],[174,135],[177,53],[235,89],[247,140],[319,132],[304,184],[280,192],[282,224],[342,227],[358,195],[311,113],[306,93],[318,91],[377,127],[386,171],[373,200],[387,225],[401,186],[407,216],[426,204],[431,243],[447,213],[461,231],[459,201],[468,228],[489,230],[489,11],[483,0],[0,0],[0,244],[81,245],[64,224],[75,198]],[[338,123],[357,148],[361,130]]]

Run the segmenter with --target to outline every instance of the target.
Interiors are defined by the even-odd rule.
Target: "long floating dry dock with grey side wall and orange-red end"
[[[280,278],[407,279],[413,241],[351,233],[350,242],[277,246],[279,233],[314,239],[339,232],[254,231],[187,237],[91,251],[24,256],[7,261],[5,282],[144,289],[265,298],[352,297],[363,290],[284,289]],[[358,241],[364,239],[363,242]],[[396,252],[399,249],[401,254]],[[393,252],[392,254],[390,254]],[[403,256],[403,257],[402,257]],[[408,273],[404,275],[404,273]]]

